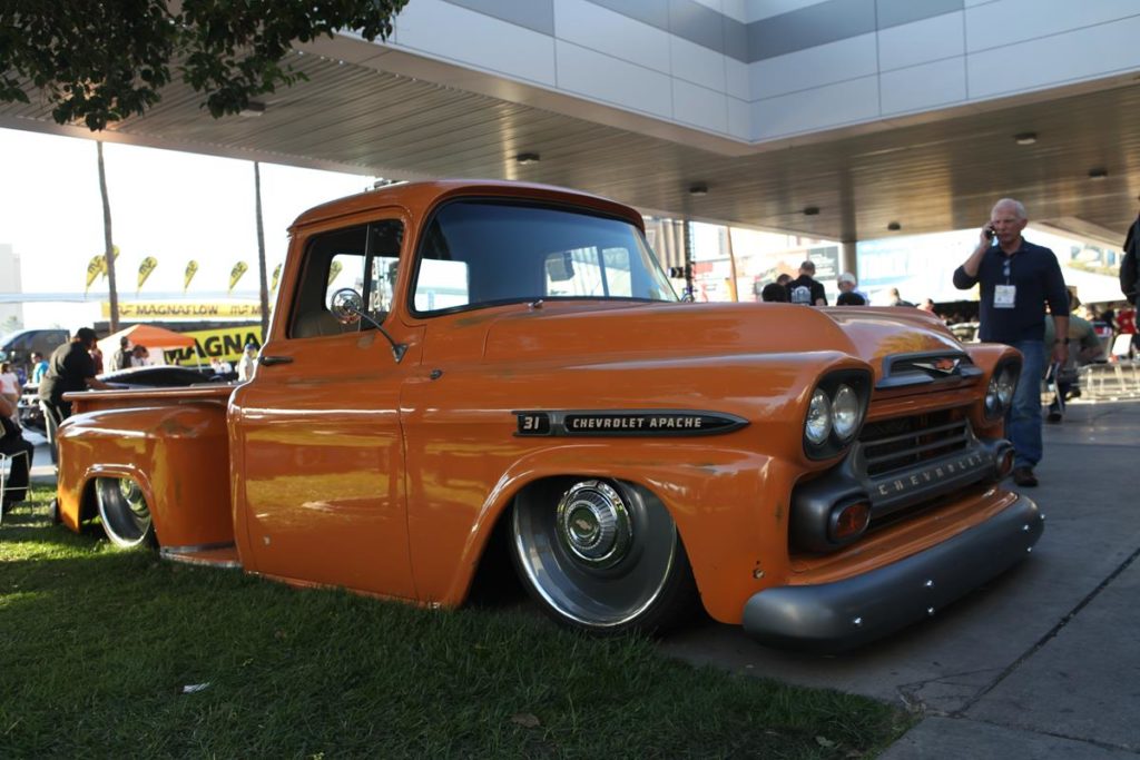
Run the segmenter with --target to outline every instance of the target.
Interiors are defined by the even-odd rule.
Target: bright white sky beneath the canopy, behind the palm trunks
[[[256,300],[258,237],[253,162],[121,144],[104,145],[112,229],[120,255],[121,299],[182,292],[186,264],[197,261],[188,296],[214,301],[230,270],[247,271],[235,296]],[[0,245],[21,256],[23,292],[82,294],[91,258],[104,251],[97,148],[93,140],[0,129]],[[266,260],[271,276],[285,259],[286,229],[304,210],[359,193],[374,178],[261,164]],[[139,264],[157,265],[137,288]],[[0,286],[9,291],[9,286]],[[24,304],[25,327],[74,329],[99,316],[106,279],[88,303]]]

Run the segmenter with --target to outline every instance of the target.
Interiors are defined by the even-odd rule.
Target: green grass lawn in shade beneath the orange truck
[[[520,605],[433,612],[0,525],[0,758],[860,758],[888,705]]]

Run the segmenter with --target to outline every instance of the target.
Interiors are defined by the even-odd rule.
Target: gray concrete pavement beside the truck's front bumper
[[[933,620],[840,656],[707,623],[684,660],[901,704],[923,720],[882,757],[1140,757],[1140,402],[1072,403],[1045,426],[1033,555]]]

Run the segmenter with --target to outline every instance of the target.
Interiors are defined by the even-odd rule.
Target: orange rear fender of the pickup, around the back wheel
[[[130,477],[146,497],[163,546],[234,540],[226,409],[220,403],[92,410],[66,419],[57,442],[59,515],[72,530],[79,530],[89,483]]]

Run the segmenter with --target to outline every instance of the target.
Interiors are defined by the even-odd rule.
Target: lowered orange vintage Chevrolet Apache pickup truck
[[[683,303],[634,210],[534,185],[389,187],[291,236],[252,381],[73,394],[70,528],[445,606],[502,547],[572,627],[699,603],[826,648],[1041,534],[1000,484],[1019,354],[919,310]]]

